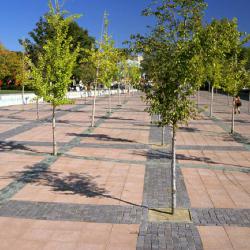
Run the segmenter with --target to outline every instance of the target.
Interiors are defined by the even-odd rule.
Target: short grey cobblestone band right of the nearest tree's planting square
[[[198,226],[237,225],[250,227],[250,209],[192,208],[192,221]]]

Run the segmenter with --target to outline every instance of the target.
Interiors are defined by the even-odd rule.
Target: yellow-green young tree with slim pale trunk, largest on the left
[[[61,18],[58,1],[54,7],[49,1],[50,11],[46,16],[48,25],[54,30],[53,37],[48,37],[41,52],[38,53],[37,63],[29,57],[32,86],[41,94],[43,99],[52,105],[53,154],[57,155],[55,138],[56,107],[69,103],[66,98],[68,85],[79,54],[79,47],[72,50],[73,38],[68,36],[70,23],[78,16]]]

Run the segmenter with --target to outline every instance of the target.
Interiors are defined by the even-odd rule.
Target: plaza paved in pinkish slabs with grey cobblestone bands
[[[231,135],[227,96],[200,93],[202,112],[177,133],[177,207],[171,205],[171,131],[144,111],[140,94],[58,108],[0,109],[0,250],[250,249],[250,114],[243,101]],[[154,117],[152,118],[154,119]]]

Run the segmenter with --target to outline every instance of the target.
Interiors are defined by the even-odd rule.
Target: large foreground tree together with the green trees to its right
[[[236,96],[244,86],[250,85],[247,61],[242,57],[243,44],[249,36],[238,31],[236,19],[204,24],[205,8],[203,0],[154,1],[143,14],[154,16],[155,26],[147,36],[132,37],[133,49],[143,53],[143,70],[153,82],[152,88],[145,89],[148,112],[159,115],[157,123],[163,129],[172,127],[173,213],[176,132],[180,124],[187,124],[196,115],[191,96],[206,82],[212,86],[212,98],[215,87]]]

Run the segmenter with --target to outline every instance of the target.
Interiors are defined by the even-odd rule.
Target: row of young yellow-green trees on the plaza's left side
[[[104,16],[101,40],[95,46],[83,48],[81,39],[75,43],[70,35],[70,27],[72,24],[75,25],[74,20],[79,15],[67,15],[61,11],[57,0],[54,4],[49,1],[49,9],[44,23],[50,35],[44,37],[36,46],[31,46],[28,40],[23,41],[25,46],[23,82],[31,86],[38,98],[43,98],[52,106],[53,154],[57,155],[55,112],[59,105],[71,102],[66,96],[73,74],[82,69],[81,72],[88,71],[89,68],[94,72],[89,82],[94,87],[91,121],[91,126],[94,126],[97,86],[102,84],[109,89],[109,112],[111,112],[111,84],[114,81],[137,83],[140,79],[140,69],[129,65],[126,54],[115,48],[114,41],[108,35],[107,14]],[[43,35],[42,32],[41,36]],[[35,36],[33,39],[35,40]],[[84,65],[89,66],[84,68]]]

